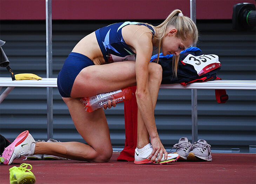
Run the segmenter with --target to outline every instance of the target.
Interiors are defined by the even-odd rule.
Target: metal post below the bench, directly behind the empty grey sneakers
[[[192,143],[197,141],[197,89],[191,89]]]

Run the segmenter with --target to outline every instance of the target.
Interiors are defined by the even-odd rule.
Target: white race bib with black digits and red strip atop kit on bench
[[[188,54],[182,62],[191,64],[195,68],[198,76],[206,74],[221,66],[219,57],[215,54],[203,54],[200,56]]]

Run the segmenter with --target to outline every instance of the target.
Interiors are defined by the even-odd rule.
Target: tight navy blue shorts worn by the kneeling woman
[[[76,76],[83,68],[91,65],[94,65],[93,61],[85,55],[74,52],[68,55],[57,80],[58,90],[62,97],[70,97]]]

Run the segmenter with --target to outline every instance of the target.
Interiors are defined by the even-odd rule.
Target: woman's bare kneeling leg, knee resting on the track
[[[109,129],[103,109],[92,113],[84,110],[79,98],[63,98],[79,134],[80,142],[37,142],[34,154],[57,155],[75,160],[107,162],[112,156]]]

